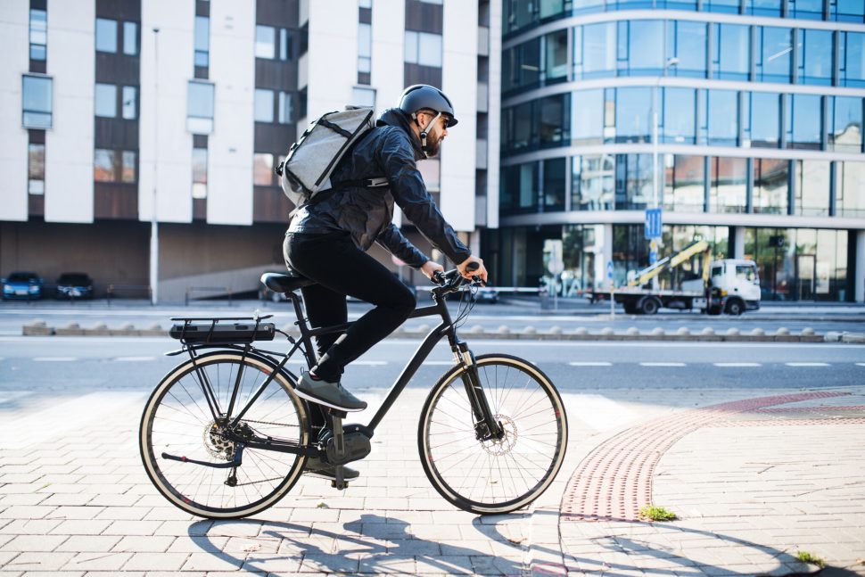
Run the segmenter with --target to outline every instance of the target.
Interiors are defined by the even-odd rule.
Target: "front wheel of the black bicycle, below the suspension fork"
[[[479,515],[525,507],[547,490],[564,460],[568,425],[562,398],[538,367],[510,355],[476,359],[490,412],[504,429],[480,441],[465,392],[465,367],[454,367],[424,403],[417,445],[424,472],[441,496]]]

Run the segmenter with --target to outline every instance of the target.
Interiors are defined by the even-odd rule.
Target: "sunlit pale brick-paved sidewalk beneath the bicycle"
[[[610,409],[582,415],[601,394]],[[144,393],[69,425],[4,414],[0,575],[780,575],[811,569],[797,550],[865,574],[865,387],[601,394],[564,395],[556,482],[530,511],[493,517],[450,507],[427,481],[425,394],[410,388],[348,490],[303,478],[235,522],[185,515],[147,481]],[[375,408],[383,391],[362,396]],[[680,520],[639,521],[649,502]]]

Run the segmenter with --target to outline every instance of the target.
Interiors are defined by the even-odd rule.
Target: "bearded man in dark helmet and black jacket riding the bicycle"
[[[342,411],[367,408],[366,402],[342,388],[345,366],[391,334],[416,306],[415,295],[367,254],[373,243],[427,277],[443,270],[391,222],[394,204],[457,263],[460,274],[486,281],[483,261],[472,256],[442,217],[416,165],[439,153],[448,128],[456,124],[453,106],[441,90],[427,85],[406,88],[399,105],[384,111],[376,127],[342,157],[331,175],[333,190],[295,210],[285,234],[284,257],[288,268],[316,281],[301,289],[310,325],[347,322],[347,295],[375,305],[344,334],[317,338],[318,363],[301,375],[298,396]],[[380,177],[387,179],[386,186],[368,185]],[[470,263],[478,268],[468,272]],[[323,421],[322,416],[316,419]],[[320,468],[323,474],[332,469],[319,465],[309,468]],[[346,477],[351,476],[357,472],[347,470]]]

